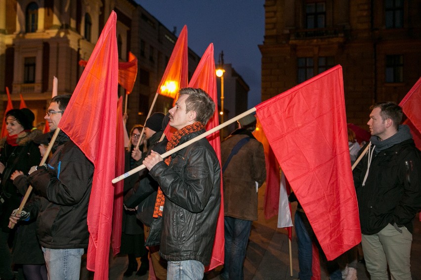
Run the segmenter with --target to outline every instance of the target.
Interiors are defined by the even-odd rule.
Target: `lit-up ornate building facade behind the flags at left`
[[[127,128],[143,124],[177,37],[133,0],[0,0],[0,113],[8,87],[14,107],[22,94],[36,123],[42,122],[53,77],[58,78],[58,94],[73,93],[84,70],[79,61],[89,59],[112,10],[119,60],[127,61],[129,51],[138,58]],[[189,50],[189,73],[199,61]],[[125,90],[119,87],[118,94]],[[166,112],[171,104],[160,97],[154,111]]]

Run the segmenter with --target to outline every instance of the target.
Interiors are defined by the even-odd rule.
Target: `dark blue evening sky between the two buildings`
[[[223,50],[224,63],[250,86],[249,108],[260,103],[264,0],[136,0],[178,36],[187,25],[188,45],[202,56],[213,43],[215,64]]]

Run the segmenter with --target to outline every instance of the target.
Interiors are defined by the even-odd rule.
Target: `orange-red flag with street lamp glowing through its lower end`
[[[157,93],[173,98],[175,103],[178,99],[178,90],[186,87],[187,81],[187,26],[185,25],[169,57],[168,65],[158,85]]]

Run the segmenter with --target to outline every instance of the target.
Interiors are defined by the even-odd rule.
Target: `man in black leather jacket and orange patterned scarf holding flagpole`
[[[177,131],[167,151],[205,132],[215,104],[201,89],[184,88],[169,110]],[[221,203],[220,165],[211,144],[201,139],[165,161],[156,152],[143,164],[158,181],[154,216],[162,215],[161,256],[168,260],[168,279],[202,279],[210,263]],[[152,231],[152,229],[151,229]]]

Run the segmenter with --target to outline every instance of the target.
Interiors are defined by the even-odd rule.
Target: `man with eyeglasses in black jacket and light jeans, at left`
[[[52,135],[71,95],[51,99],[45,120]],[[34,166],[28,181],[39,195],[22,212],[10,216],[37,219],[37,235],[44,253],[48,279],[79,280],[81,259],[88,246],[86,216],[92,187],[93,164],[62,131],[48,165]]]

